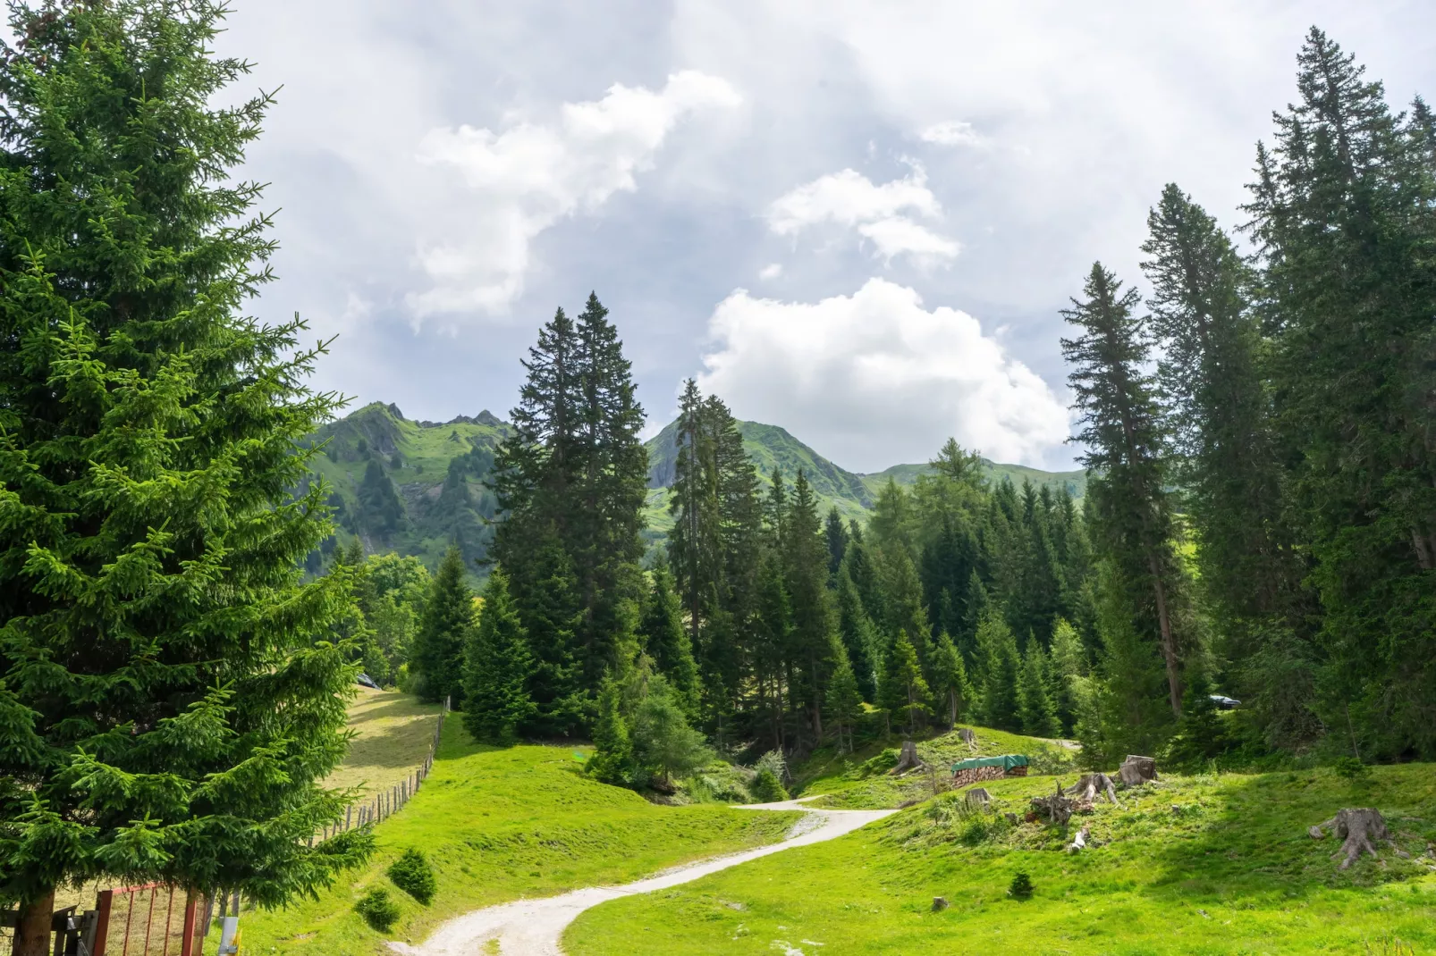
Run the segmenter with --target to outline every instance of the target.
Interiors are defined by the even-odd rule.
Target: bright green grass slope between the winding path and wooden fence
[[[445,919],[481,906],[623,883],[771,843],[796,818],[715,805],[655,807],[584,778],[572,748],[478,746],[454,716],[434,774],[408,807],[379,824],[378,857],[319,900],[246,914],[246,952],[378,956],[386,952],[385,937],[352,910],[375,884],[404,907],[389,939],[418,942]],[[424,850],[438,871],[439,893],[429,907],[383,874],[408,847]]]

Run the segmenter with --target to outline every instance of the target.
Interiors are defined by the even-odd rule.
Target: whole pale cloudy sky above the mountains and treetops
[[[592,289],[651,431],[695,375],[856,471],[1067,465],[1057,310],[1093,260],[1140,280],[1165,182],[1239,221],[1313,23],[1436,96],[1425,3],[234,6],[221,50],[283,86],[258,311],[339,336],[319,385],[507,415]]]

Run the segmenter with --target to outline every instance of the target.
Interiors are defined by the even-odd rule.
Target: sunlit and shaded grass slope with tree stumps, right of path
[[[827,844],[662,893],[606,903],[570,929],[570,956],[605,953],[1347,953],[1436,947],[1436,874],[1393,851],[1338,873],[1305,828],[1377,807],[1413,857],[1436,841],[1430,765],[1172,777],[1099,804],[1106,845],[1063,853],[1041,824],[964,817],[958,794]],[[1071,782],[1071,775],[1067,777]],[[985,784],[1021,812],[1051,777]],[[981,827],[974,827],[978,821]],[[984,835],[981,830],[988,830]],[[1017,871],[1035,896],[1007,897]],[[952,909],[929,912],[935,896]],[[1383,949],[1393,939],[1414,950]],[[816,946],[813,943],[823,943]]]

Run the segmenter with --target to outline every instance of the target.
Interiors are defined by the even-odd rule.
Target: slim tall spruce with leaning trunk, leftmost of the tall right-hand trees
[[[1176,527],[1163,467],[1162,416],[1144,370],[1149,340],[1132,314],[1136,290],[1122,291],[1100,263],[1091,267],[1084,300],[1063,317],[1078,329],[1063,339],[1067,380],[1081,412],[1077,439],[1087,446],[1087,495],[1093,500],[1103,553],[1127,591],[1133,613],[1152,627],[1166,665],[1167,702],[1182,712],[1182,568],[1173,548]]]

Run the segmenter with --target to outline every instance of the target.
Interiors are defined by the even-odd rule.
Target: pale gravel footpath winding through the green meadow
[[[750,804],[737,807],[737,810],[804,810],[807,815],[793,825],[788,838],[781,843],[701,860],[623,886],[596,886],[573,890],[563,896],[490,906],[454,917],[439,926],[419,946],[389,943],[389,949],[404,956],[475,956],[493,952],[484,947],[490,945],[490,940],[498,940],[498,952],[503,956],[561,956],[563,947],[559,945],[559,939],[563,936],[563,930],[577,919],[579,913],[592,906],[638,893],[666,890],[671,886],[688,883],[773,853],[833,840],[898,812],[895,810],[808,810],[803,805],[803,800]]]

